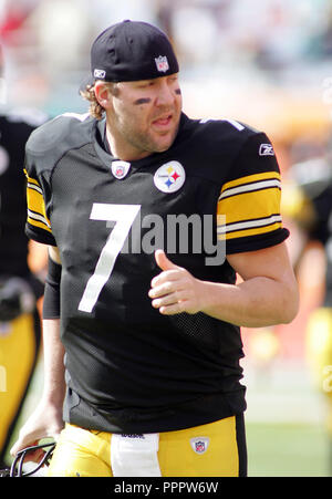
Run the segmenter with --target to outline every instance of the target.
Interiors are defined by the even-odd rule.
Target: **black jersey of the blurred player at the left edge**
[[[41,113],[11,111],[0,115],[0,274],[25,277],[28,241],[24,164],[25,143]]]

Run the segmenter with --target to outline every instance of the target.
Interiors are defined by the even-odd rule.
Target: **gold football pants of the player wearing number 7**
[[[112,434],[66,424],[56,444],[48,476],[112,477]],[[158,462],[163,477],[238,477],[247,475],[242,416],[159,434]]]

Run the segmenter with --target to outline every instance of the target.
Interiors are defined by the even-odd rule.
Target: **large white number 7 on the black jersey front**
[[[115,221],[116,223],[102,249],[94,273],[86,283],[79,304],[79,310],[82,312],[92,312],[103,287],[110,279],[115,260],[125,243],[139,209],[139,205],[93,204],[90,219]]]

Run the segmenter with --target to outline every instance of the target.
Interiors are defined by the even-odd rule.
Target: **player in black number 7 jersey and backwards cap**
[[[90,114],[27,145],[27,233],[50,247],[45,382],[12,454],[53,436],[49,476],[245,476],[240,326],[298,310],[273,147],[186,116],[151,24],[108,28],[91,58]]]

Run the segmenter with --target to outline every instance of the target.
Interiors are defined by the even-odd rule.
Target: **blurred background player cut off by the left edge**
[[[0,114],[0,467],[4,466],[40,346],[37,301],[43,283],[28,264],[22,166],[25,143],[44,121],[43,113],[32,111]]]

